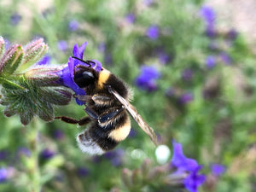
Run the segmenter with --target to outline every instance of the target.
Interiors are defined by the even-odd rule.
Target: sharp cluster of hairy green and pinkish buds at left
[[[45,121],[54,119],[53,106],[67,105],[72,96],[64,88],[48,84],[59,79],[52,72],[63,67],[40,68],[35,64],[47,49],[48,46],[40,38],[25,47],[13,44],[4,50],[4,41],[0,38],[0,83],[3,85],[0,103],[6,106],[4,115],[10,117],[19,114],[23,125],[27,125],[34,115]],[[30,67],[32,64],[35,65]],[[26,74],[22,73],[25,70]]]

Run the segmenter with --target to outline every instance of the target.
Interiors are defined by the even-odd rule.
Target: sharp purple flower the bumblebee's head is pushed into
[[[75,44],[73,47],[73,56],[83,60],[84,49],[86,48],[86,45],[87,45],[87,42],[82,44],[80,47],[78,44]],[[84,92],[84,90],[81,89],[79,85],[76,84],[73,80],[74,70],[75,70],[75,67],[78,65],[82,65],[85,67],[90,67],[90,66],[84,62],[81,62],[77,59],[72,58],[71,56],[69,57],[67,64],[68,66],[62,69],[61,72],[59,72],[58,74],[58,76],[61,78],[58,80],[59,84],[63,84],[64,86],[69,87],[75,92],[76,95],[85,95],[86,93]],[[92,60],[90,64],[91,64],[91,67],[94,68],[97,72],[100,72],[102,70],[102,63],[100,61]],[[79,67],[77,69],[79,69]],[[84,102],[79,101],[79,99],[76,99],[76,102],[79,105],[84,104]]]

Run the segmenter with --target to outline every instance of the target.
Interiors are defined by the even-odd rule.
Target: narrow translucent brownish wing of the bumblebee
[[[137,109],[132,106],[130,102],[127,102],[124,97],[120,96],[115,90],[112,90],[110,88],[109,91],[119,100],[120,103],[125,106],[125,109],[128,111],[128,113],[131,114],[131,117],[137,122],[137,124],[143,129],[143,131],[147,133],[148,137],[150,137],[152,142],[157,145],[157,138],[154,130],[146,123],[142,116],[137,113]]]

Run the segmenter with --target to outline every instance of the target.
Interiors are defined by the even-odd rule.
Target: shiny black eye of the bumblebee
[[[95,80],[93,73],[89,71],[84,71],[83,73],[75,74],[73,80],[79,87],[86,87],[89,84],[92,84]]]

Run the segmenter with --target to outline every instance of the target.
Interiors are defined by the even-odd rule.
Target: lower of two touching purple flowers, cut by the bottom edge
[[[206,176],[199,174],[198,172],[201,170],[202,166],[197,166],[193,172],[189,173],[188,177],[185,177],[183,183],[185,188],[190,192],[197,192],[198,187],[205,182]]]

